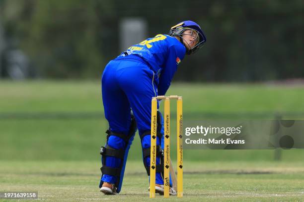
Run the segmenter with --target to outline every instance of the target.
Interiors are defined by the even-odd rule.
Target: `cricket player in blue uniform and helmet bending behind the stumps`
[[[166,94],[184,56],[195,53],[205,42],[200,26],[187,20],[173,26],[169,35],[158,34],[131,46],[106,65],[101,88],[109,129],[106,144],[100,149],[101,192],[112,195],[121,191],[128,152],[137,129],[144,166],[150,176],[152,97]],[[163,134],[163,118],[157,111],[155,192],[159,194],[163,194]],[[170,195],[175,195],[171,178],[169,184]]]

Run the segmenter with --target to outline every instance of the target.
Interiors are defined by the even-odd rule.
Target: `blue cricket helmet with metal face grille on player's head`
[[[186,30],[191,30],[191,32],[185,33]],[[195,22],[189,20],[178,23],[177,25],[171,27],[169,35],[180,37],[180,41],[183,44],[185,41],[183,40],[183,35],[191,35],[195,38],[191,43],[197,42],[197,44],[193,48],[190,48],[190,50],[187,49],[186,54],[188,55],[197,52],[200,48],[203,47],[204,43],[206,43],[206,36],[200,26]],[[189,47],[190,44],[188,44]],[[184,46],[186,47],[185,44]]]

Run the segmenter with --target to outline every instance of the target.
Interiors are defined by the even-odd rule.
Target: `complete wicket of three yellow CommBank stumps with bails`
[[[164,100],[164,198],[169,198],[169,169],[170,169],[170,100],[177,100],[177,197],[183,197],[183,146],[182,121],[183,100],[179,96],[157,96],[152,98],[151,111],[151,163],[150,163],[150,198],[155,197],[156,171],[156,128],[157,128],[157,100]],[[173,173],[174,174],[174,173]],[[171,174],[172,175],[172,174]]]

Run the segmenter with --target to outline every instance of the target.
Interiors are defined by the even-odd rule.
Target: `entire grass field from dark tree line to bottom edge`
[[[303,119],[303,90],[173,83],[168,94],[183,96],[185,120],[276,114]],[[1,81],[0,191],[37,190],[39,199],[48,201],[150,201],[138,136],[122,193],[98,192],[99,147],[107,128],[100,94],[98,81]],[[175,152],[174,146],[173,160]],[[303,159],[304,150],[284,150],[279,162],[273,150],[184,150],[179,201],[304,201]]]

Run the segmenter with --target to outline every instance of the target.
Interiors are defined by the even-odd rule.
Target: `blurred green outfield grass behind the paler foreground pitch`
[[[108,125],[103,118],[99,81],[1,81],[0,85],[0,159],[27,160],[96,160],[104,145]],[[184,120],[201,114],[285,111],[304,114],[302,86],[262,84],[179,84],[173,83],[168,94],[183,96]],[[172,114],[175,107],[172,105]],[[55,116],[48,116],[53,113]],[[77,112],[87,112],[82,118]],[[1,114],[13,113],[11,118]],[[18,114],[37,114],[35,118],[18,118]],[[56,114],[71,114],[58,118]],[[75,115],[76,113],[76,115]],[[90,117],[90,113],[99,113]],[[74,115],[73,115],[74,114]],[[82,114],[83,115],[83,114]],[[294,115],[294,116],[296,116]],[[26,116],[25,116],[26,117]],[[206,116],[205,116],[206,117]],[[172,123],[175,119],[172,118]],[[172,124],[172,134],[175,133]],[[172,143],[174,142],[174,136]],[[136,136],[129,158],[140,160],[141,146]],[[185,150],[189,160],[273,160],[269,151]],[[175,144],[172,144],[175,156]],[[173,157],[174,158],[174,157]],[[303,150],[283,151],[282,160],[304,158]]]

